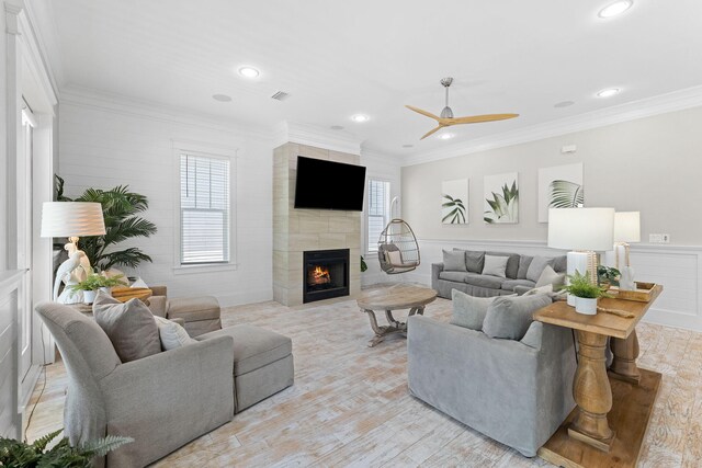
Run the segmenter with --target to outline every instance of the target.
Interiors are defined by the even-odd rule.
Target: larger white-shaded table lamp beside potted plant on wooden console
[[[566,273],[586,274],[597,284],[597,253],[607,251],[614,242],[614,208],[551,208],[548,209],[548,247],[570,249]],[[575,298],[568,295],[568,305]]]

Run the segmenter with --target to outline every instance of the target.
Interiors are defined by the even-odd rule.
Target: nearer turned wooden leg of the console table
[[[578,408],[568,427],[568,435],[609,452],[614,432],[607,421],[607,413],[612,409],[612,389],[604,355],[607,336],[580,330],[577,334],[578,368],[573,383],[573,397]]]

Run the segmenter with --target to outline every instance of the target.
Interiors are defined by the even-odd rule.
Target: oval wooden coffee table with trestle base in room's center
[[[409,309],[409,316],[424,313],[424,306],[437,298],[437,292],[429,287],[410,284],[393,284],[361,293],[356,299],[362,312],[369,315],[375,338],[369,346],[375,346],[385,336],[393,333],[407,333],[407,323],[399,322],[393,317],[393,310]],[[380,327],[375,318],[375,310],[385,310],[387,326]]]

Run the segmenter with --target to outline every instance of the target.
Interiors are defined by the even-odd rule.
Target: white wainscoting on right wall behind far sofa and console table
[[[540,241],[437,240],[420,239],[421,265],[405,281],[431,285],[431,264],[442,261],[442,250],[454,248],[492,250],[526,255],[555,256],[565,251],[550,249]],[[702,331],[702,247],[632,244],[631,264],[635,279],[658,283],[664,292],[644,321]]]

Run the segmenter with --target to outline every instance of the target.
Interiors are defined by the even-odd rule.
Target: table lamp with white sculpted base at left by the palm
[[[63,295],[66,297],[59,299],[60,283],[76,284],[92,273],[86,253],[78,250],[78,240],[80,236],[102,236],[104,233],[105,221],[100,203],[44,202],[41,237],[67,237],[69,240],[64,247],[68,251],[68,260],[61,263],[56,272],[54,300],[65,304],[79,300],[78,297],[67,297],[66,293]]]

